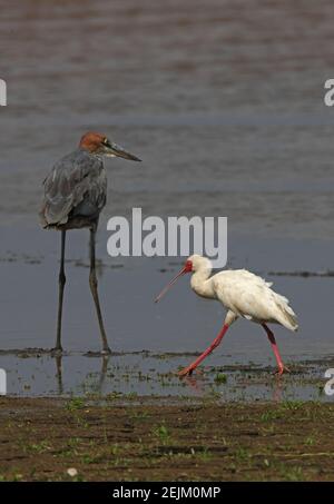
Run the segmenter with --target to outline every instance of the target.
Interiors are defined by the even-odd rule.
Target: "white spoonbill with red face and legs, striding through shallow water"
[[[222,342],[228,327],[238,317],[261,324],[265,329],[273,347],[277,374],[288,370],[281,358],[278,347],[268,323],[281,324],[289,330],[297,330],[296,314],[288,305],[288,299],[275,293],[272,283],[265,281],[257,275],[246,269],[227,269],[210,277],[213,266],[209,259],[198,255],[190,256],[178,275],[164,288],[156,298],[161,299],[175,281],[186,273],[193,273],[190,285],[198,296],[217,299],[227,309],[223,328],[212,345],[189,366],[179,372],[179,376],[190,375],[193,370],[209,355]]]

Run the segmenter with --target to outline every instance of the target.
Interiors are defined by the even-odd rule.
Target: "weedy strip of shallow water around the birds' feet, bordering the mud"
[[[191,377],[179,379],[176,372],[195,356],[138,352],[98,357],[68,353],[51,357],[43,352],[9,352],[0,355],[7,369],[11,396],[114,397],[128,401],[179,397],[226,401],[332,401],[325,393],[325,372],[331,360],[289,359],[291,374],[273,375],[274,366],[242,364],[235,355],[210,358]],[[198,355],[198,354],[197,354]],[[333,360],[332,360],[333,363]]]

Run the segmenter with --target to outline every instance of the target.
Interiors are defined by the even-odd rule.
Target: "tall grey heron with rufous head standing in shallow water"
[[[88,228],[90,230],[90,275],[89,285],[94,297],[101,338],[102,353],[110,349],[104,326],[100,302],[97,289],[95,240],[99,215],[107,201],[107,172],[102,157],[120,157],[131,161],[140,161],[122,147],[96,132],[84,135],[79,147],[61,158],[45,179],[45,196],[40,209],[41,225],[46,229],[61,231],[61,256],[59,271],[59,302],[57,339],[55,352],[61,348],[62,299],[66,283],[65,276],[65,240],[68,229]]]

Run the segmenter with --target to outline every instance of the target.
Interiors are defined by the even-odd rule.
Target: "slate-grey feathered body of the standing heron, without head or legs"
[[[90,226],[107,199],[102,158],[79,147],[56,162],[43,186],[40,219],[45,228]]]

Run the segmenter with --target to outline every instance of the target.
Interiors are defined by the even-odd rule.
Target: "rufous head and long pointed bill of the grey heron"
[[[108,140],[105,135],[89,131],[81,137],[79,147],[97,156],[119,157],[131,161],[141,161],[141,159],[127,152],[122,147]]]

